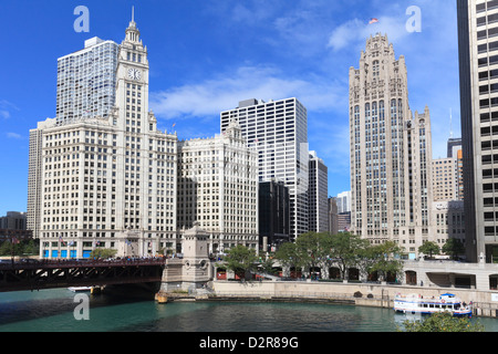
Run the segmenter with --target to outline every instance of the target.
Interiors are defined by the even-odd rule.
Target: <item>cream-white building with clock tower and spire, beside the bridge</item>
[[[79,77],[87,67],[74,70]],[[41,194],[29,205],[40,210],[41,257],[85,258],[96,247],[147,256],[176,242],[177,136],[158,131],[148,110],[148,70],[132,19],[120,45],[111,112],[58,116],[31,132],[30,189]]]

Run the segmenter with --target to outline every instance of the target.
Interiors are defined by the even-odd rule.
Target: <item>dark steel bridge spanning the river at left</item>
[[[0,263],[0,292],[160,282],[166,260],[42,260]]]

